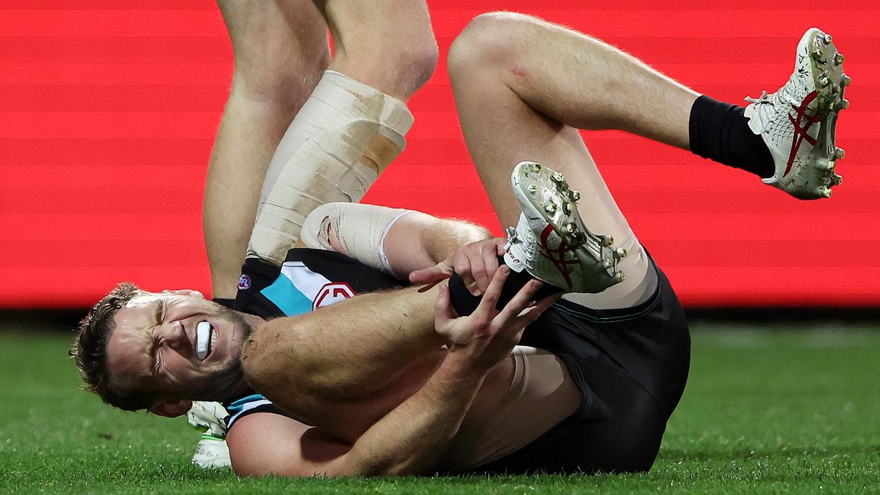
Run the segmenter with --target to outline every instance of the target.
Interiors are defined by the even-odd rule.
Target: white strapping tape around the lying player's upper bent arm
[[[394,222],[411,212],[374,204],[326,203],[305,218],[300,239],[307,247],[333,249],[327,235],[332,227],[349,257],[393,276],[385,257],[385,237]]]

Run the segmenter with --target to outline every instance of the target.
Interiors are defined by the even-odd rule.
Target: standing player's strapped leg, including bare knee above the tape
[[[319,204],[360,201],[403,151],[412,125],[403,101],[436,67],[422,0],[315,4],[334,35],[334,72],[291,122],[265,174],[248,255],[275,264]]]

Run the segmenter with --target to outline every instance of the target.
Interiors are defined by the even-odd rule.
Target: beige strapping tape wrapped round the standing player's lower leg
[[[281,264],[312,210],[360,201],[412,124],[402,101],[327,70],[278,144],[247,255]]]

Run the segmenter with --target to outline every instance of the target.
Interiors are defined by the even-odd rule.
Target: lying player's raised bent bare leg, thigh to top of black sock
[[[581,191],[590,230],[630,248],[627,280],[596,297],[634,302],[648,262],[577,129],[623,129],[686,148],[698,94],[601,41],[509,12],[473,19],[452,45],[449,71],[468,149],[502,225],[516,225],[520,212],[514,165],[559,170]]]

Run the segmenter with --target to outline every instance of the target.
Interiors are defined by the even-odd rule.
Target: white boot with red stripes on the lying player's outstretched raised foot
[[[755,134],[764,138],[775,164],[765,184],[800,199],[831,196],[843,150],[834,145],[838,112],[849,107],[843,92],[850,78],[829,34],[811,27],[797,44],[795,72],[779,91],[763,92],[745,107]]]

